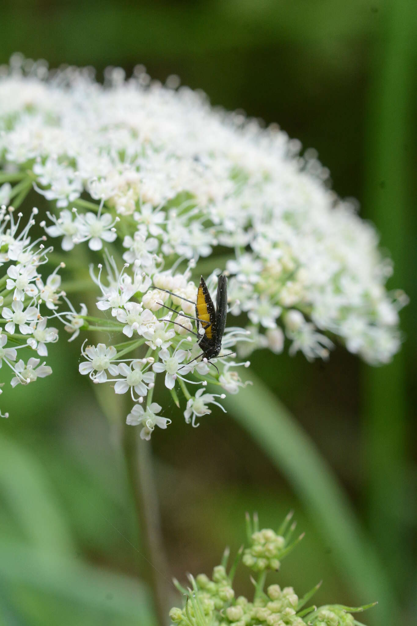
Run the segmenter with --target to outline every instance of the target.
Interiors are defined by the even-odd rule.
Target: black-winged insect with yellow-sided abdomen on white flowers
[[[157,287],[157,289],[159,289],[159,287]],[[226,276],[219,276],[216,295],[216,309],[214,309],[213,300],[211,299],[203,276],[201,276],[200,284],[198,286],[197,302],[193,302],[193,300],[183,298],[181,297],[181,295],[174,294],[174,292],[169,291],[168,289],[159,290],[164,291],[167,294],[174,295],[180,300],[190,302],[196,307],[196,317],[181,313],[182,317],[188,317],[189,319],[193,319],[197,324],[197,332],[189,332],[192,332],[193,335],[198,337],[198,345],[199,347],[201,347],[202,352],[198,354],[198,356],[196,356],[193,361],[196,361],[196,359],[202,357],[203,359],[207,359],[209,362],[211,362],[210,359],[214,359],[216,357],[221,359],[224,356],[230,356],[231,354],[235,354],[234,352],[229,352],[228,354],[223,354],[223,356],[221,357],[218,356],[219,352],[221,351],[221,341],[223,339],[224,329],[226,327],[226,314],[228,307],[228,279],[226,279]],[[178,314],[178,311],[176,309],[168,307],[166,304],[163,304],[163,302],[158,302],[158,304],[161,304],[161,306],[165,307],[165,309],[169,309]],[[176,322],[175,320],[172,321],[172,323],[178,324],[178,326],[182,326],[182,324],[179,324],[179,322]],[[199,332],[200,324],[201,328],[204,329],[203,334]],[[213,362],[211,362],[211,364],[216,367]]]

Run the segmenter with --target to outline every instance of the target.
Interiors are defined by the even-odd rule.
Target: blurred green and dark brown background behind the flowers
[[[323,578],[318,603],[379,600],[361,620],[415,623],[414,0],[6,0],[0,20],[0,63],[21,51],[52,67],[92,65],[98,78],[143,63],[213,105],[278,122],[318,150],[339,195],[358,198],[376,224],[394,259],[389,287],[411,297],[392,364],[371,369],[341,348],[326,364],[256,353],[256,419],[244,413],[254,392],[241,392],[198,429],[167,396],[173,424],[152,442],[161,579],[168,604],[179,603],[166,579],[210,573],[226,543],[243,541],[244,511],[276,527],[294,508],[306,537],[279,583],[302,595]],[[50,352],[54,376],[8,394],[0,424],[0,623],[151,626],[117,426],[79,377],[78,342]]]

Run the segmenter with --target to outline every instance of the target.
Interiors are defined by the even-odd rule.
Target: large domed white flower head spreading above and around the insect
[[[139,384],[134,399],[152,388],[154,373],[164,372],[174,399],[177,380],[206,376],[208,364],[191,363],[198,348],[187,317],[195,315],[189,279],[201,257],[207,273],[222,267],[229,277],[230,311],[246,317],[250,334],[237,344],[244,358],[259,347],[279,354],[287,342],[290,354],[324,359],[338,340],[368,362],[388,362],[401,343],[406,296],[386,291],[392,268],[374,228],[329,189],[316,153],[300,156],[299,142],[276,126],[213,111],[204,95],[173,84],[151,81],[138,66],[129,80],[109,69],[101,86],[91,69],[48,73],[19,55],[0,72],[0,197],[20,200],[34,187],[51,203],[46,233],[61,237],[64,250],[87,241],[109,250],[106,286],[95,279],[98,308],[132,343],[115,354],[86,348],[91,364],[119,363],[117,375],[92,366],[90,376],[117,376],[116,393]],[[121,272],[112,261],[120,255]],[[176,324],[162,305],[180,314]],[[223,347],[239,339],[229,331]],[[143,343],[149,354],[119,361]],[[216,382],[236,393],[241,381],[221,362]],[[193,423],[213,403],[200,392],[188,397],[183,388]],[[162,423],[149,412],[144,436]]]

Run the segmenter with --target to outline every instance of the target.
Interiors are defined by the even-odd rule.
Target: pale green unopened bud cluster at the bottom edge
[[[281,547],[271,546],[271,558],[277,558],[283,552],[284,546],[288,549],[288,553],[293,544],[288,544],[285,536],[279,533],[286,533],[286,527],[289,523],[291,515],[288,515],[278,533],[271,529],[261,531],[255,530],[249,535],[249,543],[251,548],[256,546],[265,546],[276,538]],[[254,525],[257,525],[255,518]],[[294,525],[291,526],[294,528]],[[251,529],[253,530],[253,528]],[[290,530],[291,532],[291,530]],[[258,572],[258,580],[253,580],[254,596],[249,600],[244,596],[235,597],[233,590],[233,578],[242,550],[234,560],[233,565],[227,570],[229,552],[225,550],[221,565],[214,567],[211,579],[205,574],[199,574],[195,579],[189,575],[191,587],[184,588],[178,581],[174,580],[174,584],[178,590],[186,598],[183,608],[172,608],[169,612],[171,622],[177,626],[304,626],[306,623],[312,626],[354,626],[355,622],[352,612],[360,612],[368,607],[344,607],[343,605],[325,605],[316,607],[308,605],[308,602],[314,593],[318,590],[321,583],[318,583],[303,597],[299,597],[293,587],[281,588],[278,584],[273,583],[266,587],[265,573],[267,570],[275,569],[276,563],[268,565],[263,573],[259,575],[259,568],[254,568],[245,559],[248,555],[247,550],[243,553],[243,563],[251,567],[254,572]],[[305,608],[306,607],[306,608]]]

